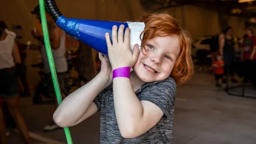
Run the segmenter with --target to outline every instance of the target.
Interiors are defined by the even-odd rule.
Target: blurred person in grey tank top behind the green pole
[[[39,5],[37,5],[33,11],[31,11],[31,14],[35,14],[36,18],[41,22],[41,15],[40,15],[40,9]],[[51,43],[51,48],[52,48],[52,55],[54,59],[54,64],[57,72],[57,77],[59,81],[59,87],[60,91],[62,93],[62,99],[65,98],[64,94],[64,80],[67,76],[67,71],[68,71],[68,63],[65,57],[66,54],[66,33],[65,31],[61,30],[60,27],[56,25],[54,20],[51,18],[50,14],[46,12],[46,21],[47,21],[47,27],[49,30],[49,37],[50,37],[50,43]],[[47,78],[47,86],[49,90],[49,95],[51,98],[55,100],[55,107],[58,107],[58,102],[57,98],[55,95],[54,91],[54,86],[52,82],[52,75],[51,75],[51,70],[49,66],[49,61],[47,58],[47,53],[46,53],[46,48],[44,45],[44,37],[40,31],[37,30],[32,30],[32,35],[35,39],[40,41],[42,43],[41,47],[41,55],[44,63],[44,70],[46,73],[46,78]],[[60,127],[54,123],[53,119],[52,122],[49,125],[46,125],[44,127],[44,131],[53,131],[56,129],[59,129]]]

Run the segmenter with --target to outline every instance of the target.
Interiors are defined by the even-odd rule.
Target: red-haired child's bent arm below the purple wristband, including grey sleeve
[[[175,87],[171,83],[163,85]],[[130,79],[118,77],[113,80],[115,113],[122,137],[138,137],[156,125],[163,114],[169,116],[166,109],[174,101],[172,94],[175,88],[170,91],[169,88],[163,90],[160,86],[155,87],[155,91],[147,91],[140,101],[132,89]]]

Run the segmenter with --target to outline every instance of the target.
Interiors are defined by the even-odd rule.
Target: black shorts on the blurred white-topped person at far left
[[[18,94],[18,79],[15,68],[0,69],[0,95],[12,98]]]

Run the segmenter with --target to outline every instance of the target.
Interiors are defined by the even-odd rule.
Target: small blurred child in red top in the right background
[[[215,80],[216,80],[216,87],[221,87],[222,77],[224,74],[224,61],[222,60],[221,55],[217,55],[217,61],[213,62],[213,67],[215,69]]]

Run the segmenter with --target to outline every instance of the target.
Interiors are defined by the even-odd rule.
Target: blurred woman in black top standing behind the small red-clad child
[[[229,74],[231,77],[234,75],[234,71],[230,69],[233,62],[236,60],[236,53],[235,53],[235,40],[233,38],[233,28],[228,26],[223,30],[223,34],[220,37],[220,54],[223,57],[225,62],[224,66],[224,75],[227,75],[229,70]],[[235,81],[234,79],[232,79]]]

